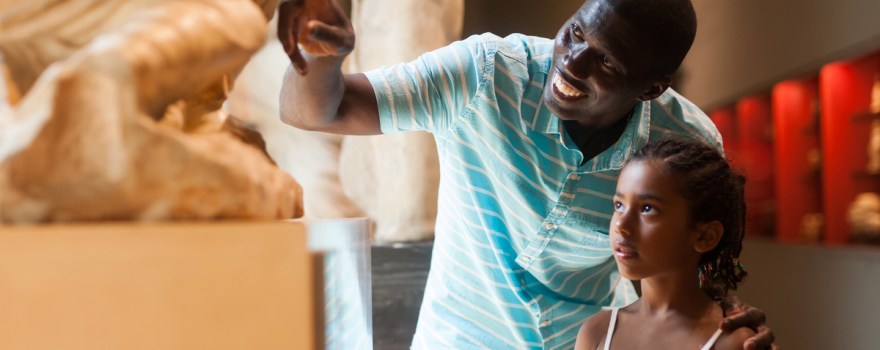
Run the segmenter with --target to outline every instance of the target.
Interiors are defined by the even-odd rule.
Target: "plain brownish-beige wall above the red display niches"
[[[694,0],[679,90],[704,110],[880,49],[877,0]]]

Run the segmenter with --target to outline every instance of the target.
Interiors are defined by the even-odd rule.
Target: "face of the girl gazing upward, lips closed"
[[[673,175],[657,160],[627,164],[617,182],[611,217],[611,249],[630,280],[694,275],[700,253],[698,227]]]

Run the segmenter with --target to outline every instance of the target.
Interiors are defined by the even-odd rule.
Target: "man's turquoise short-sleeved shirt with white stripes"
[[[433,133],[434,253],[413,348],[571,348],[589,316],[636,299],[608,241],[621,165],[649,140],[721,147],[671,89],[636,106],[620,140],[582,164],[542,103],[553,41],[473,36],[367,73],[383,133]]]

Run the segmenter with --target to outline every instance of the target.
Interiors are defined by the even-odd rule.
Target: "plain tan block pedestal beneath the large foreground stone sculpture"
[[[327,237],[367,233],[366,220],[0,226],[0,348],[324,348]]]

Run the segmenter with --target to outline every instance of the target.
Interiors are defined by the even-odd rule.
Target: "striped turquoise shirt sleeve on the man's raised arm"
[[[488,36],[472,36],[412,62],[366,72],[382,133],[444,133],[476,94],[492,43]]]

